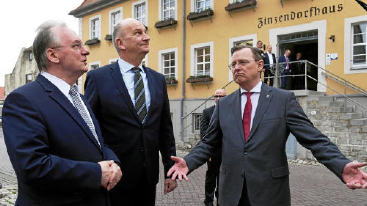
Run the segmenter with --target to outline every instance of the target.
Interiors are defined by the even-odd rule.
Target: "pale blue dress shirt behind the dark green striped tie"
[[[134,87],[135,72],[131,70],[135,66],[131,65],[130,63],[124,61],[121,58],[119,58],[117,62],[119,63],[120,71],[124,79],[127,91],[129,92],[132,104],[134,104],[134,107],[135,107],[135,87]],[[141,74],[141,77],[143,78],[146,112],[148,113],[149,106],[150,106],[150,92],[149,92],[149,87],[148,87],[148,78],[146,77],[146,71],[143,69],[142,64],[140,64],[138,67],[141,69],[140,74]]]

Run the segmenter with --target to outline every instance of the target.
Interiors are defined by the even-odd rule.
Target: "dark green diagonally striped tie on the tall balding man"
[[[140,121],[144,124],[146,119],[146,102],[143,78],[140,74],[140,68],[134,67],[132,71],[135,72],[134,87],[135,87],[135,109],[137,110]]]

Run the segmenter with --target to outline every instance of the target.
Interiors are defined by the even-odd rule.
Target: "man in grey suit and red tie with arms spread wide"
[[[367,174],[359,169],[366,163],[350,162],[341,154],[312,125],[294,93],[262,83],[263,65],[257,48],[232,48],[233,80],[240,88],[217,102],[204,139],[185,158],[172,157],[175,165],[168,175],[188,180],[187,174],[205,163],[222,142],[221,206],[290,205],[285,146],[292,132],[349,188],[367,188]]]

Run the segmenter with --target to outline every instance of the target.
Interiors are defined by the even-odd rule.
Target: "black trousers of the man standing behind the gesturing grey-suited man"
[[[218,191],[215,192],[215,187],[218,188],[219,184],[219,168],[222,162],[221,155],[222,151],[218,150],[211,158],[211,161],[207,162],[208,170],[205,174],[205,204],[213,202],[214,194],[217,197],[218,203]]]

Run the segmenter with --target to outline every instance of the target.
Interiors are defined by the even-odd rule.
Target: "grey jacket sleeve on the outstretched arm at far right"
[[[287,127],[297,141],[312,151],[313,156],[341,179],[344,166],[350,162],[330,141],[313,126],[296,100],[294,93],[288,95],[286,109]]]

